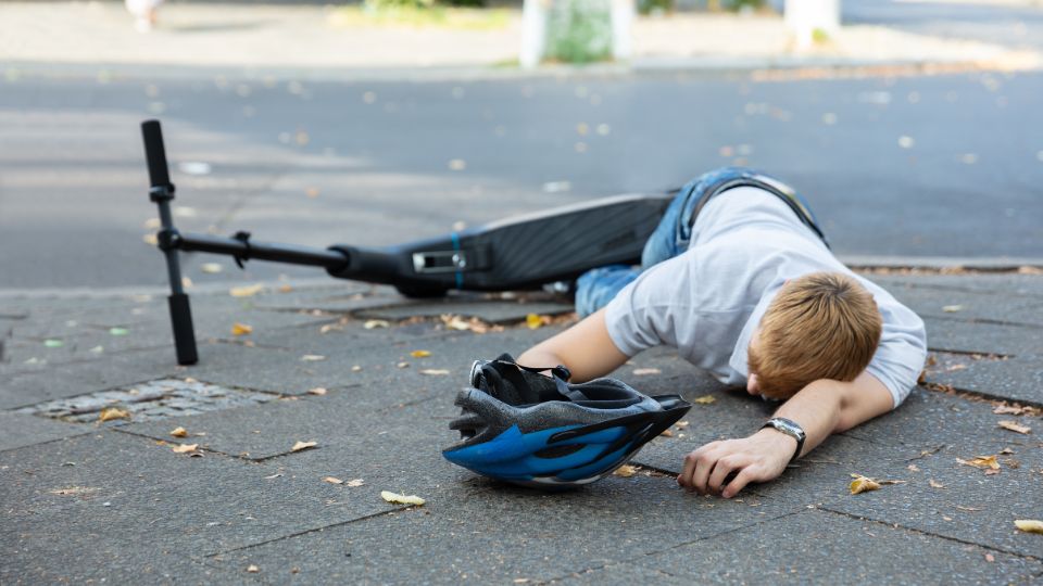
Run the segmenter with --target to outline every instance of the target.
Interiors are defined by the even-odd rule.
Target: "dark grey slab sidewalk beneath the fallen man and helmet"
[[[470,361],[566,327],[560,300],[211,288],[192,297],[201,361],[181,368],[158,291],[0,293],[0,583],[1038,583],[1043,535],[1014,521],[1043,518],[1043,277],[901,272],[870,278],[927,321],[925,386],[727,501],[673,474],[768,406],[668,351],[616,375],[715,400],[632,476],[545,495],[441,458]],[[529,313],[565,317],[531,330]],[[129,419],[100,422],[106,407]],[[964,463],[985,456],[998,468]],[[851,495],[852,473],[896,483]]]

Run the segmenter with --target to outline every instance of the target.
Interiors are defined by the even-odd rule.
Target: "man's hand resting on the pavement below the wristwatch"
[[[677,483],[701,495],[736,496],[751,482],[777,479],[796,450],[796,440],[767,428],[742,440],[711,442],[684,457]]]

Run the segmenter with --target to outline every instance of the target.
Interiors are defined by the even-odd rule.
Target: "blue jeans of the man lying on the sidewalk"
[[[766,182],[769,184],[765,186]],[[772,191],[780,192],[777,194],[783,199],[790,199],[790,206],[801,208],[815,226],[813,229],[817,230],[818,220],[807,201],[778,179],[744,167],[721,167],[705,173],[689,181],[677,192],[666,213],[663,214],[659,225],[644,243],[640,267],[608,265],[588,270],[579,276],[576,280],[576,313],[580,317],[593,314],[607,305],[616,293],[637,279],[641,271],[687,251],[692,240],[694,224],[692,215],[700,204],[721,191],[741,184],[768,187]],[[800,212],[796,213],[800,214]]]

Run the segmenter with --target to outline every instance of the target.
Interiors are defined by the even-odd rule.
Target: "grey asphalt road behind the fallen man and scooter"
[[[0,289],[159,284],[138,124],[164,123],[184,230],[391,244],[747,164],[845,254],[1043,257],[1043,75],[752,82],[8,78]],[[566,189],[567,188],[567,189]],[[227,280],[188,263],[197,282]],[[314,270],[253,265],[243,278]]]

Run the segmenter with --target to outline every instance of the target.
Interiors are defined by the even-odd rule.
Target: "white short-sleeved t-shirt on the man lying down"
[[[645,270],[608,303],[608,335],[627,356],[666,344],[729,385],[745,385],[746,348],[788,279],[843,272],[871,294],[883,318],[866,369],[897,407],[927,358],[923,321],[890,293],[853,273],[776,195],[740,187],[696,217],[688,251]]]

